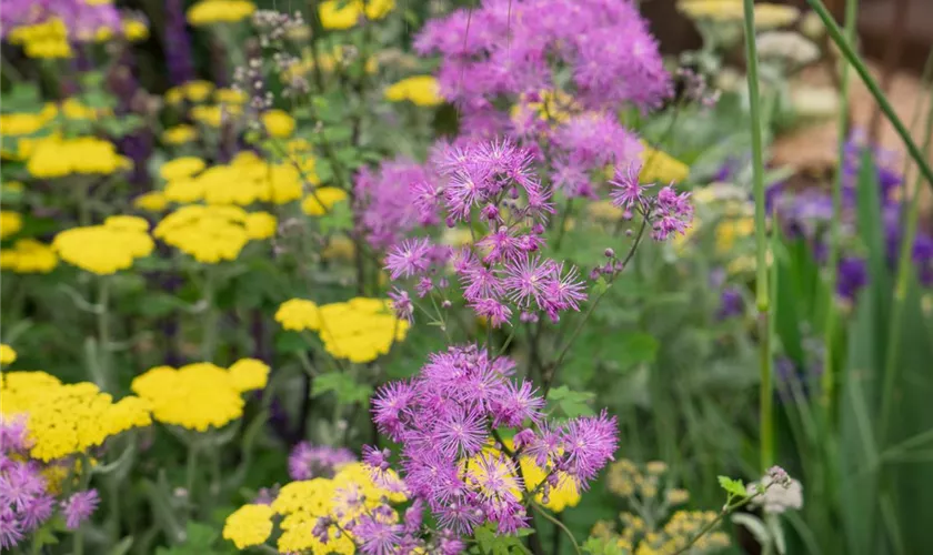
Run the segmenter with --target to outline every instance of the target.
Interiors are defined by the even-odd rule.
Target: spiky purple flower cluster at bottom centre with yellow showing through
[[[465,535],[492,523],[510,534],[526,526],[520,455],[546,472],[545,497],[561,480],[585,490],[613,457],[614,417],[603,413],[551,425],[544,398],[530,382],[512,379],[513,372],[510,359],[475,345],[452,346],[432,354],[418,376],[387,384],[373,400],[380,432],[401,444],[405,486],[443,529]],[[493,442],[500,426],[521,430],[514,452]],[[363,461],[379,475],[389,468],[389,455],[369,447]]]

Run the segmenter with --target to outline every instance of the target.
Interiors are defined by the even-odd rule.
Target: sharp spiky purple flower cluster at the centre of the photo
[[[463,297],[493,326],[509,322],[513,309],[523,321],[544,313],[554,322],[563,311],[579,311],[586,292],[576,268],[538,253],[554,205],[531,161],[528,149],[510,141],[438,149],[432,165],[439,178],[412,182],[414,205],[423,221],[443,213],[451,228],[466,223],[473,241],[459,250],[423,238],[402,241],[385,258],[391,278],[418,280],[417,292],[425,296],[449,286],[432,276],[452,262]],[[410,319],[408,293],[397,290],[392,297],[400,316]]]

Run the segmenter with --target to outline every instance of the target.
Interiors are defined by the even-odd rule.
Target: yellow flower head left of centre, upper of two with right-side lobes
[[[215,264],[237,260],[250,240],[272,236],[275,225],[275,216],[267,212],[191,204],[163,218],[152,234],[198,262]]]

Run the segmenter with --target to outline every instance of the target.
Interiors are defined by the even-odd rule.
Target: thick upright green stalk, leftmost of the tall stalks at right
[[[745,58],[749,73],[749,105],[752,118],[752,183],[755,198],[755,306],[759,313],[759,353],[761,364],[761,466],[774,463],[774,411],[771,385],[771,325],[768,295],[768,233],[764,212],[764,154],[761,139],[761,98],[759,95],[758,47],[755,44],[754,0],[743,0],[745,11]]]

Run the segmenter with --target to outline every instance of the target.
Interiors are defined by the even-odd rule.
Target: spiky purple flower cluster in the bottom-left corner
[[[43,476],[44,466],[28,456],[23,418],[0,416],[0,548],[12,549],[42,526],[60,505],[66,526],[77,529],[97,507],[88,490],[58,504]]]

